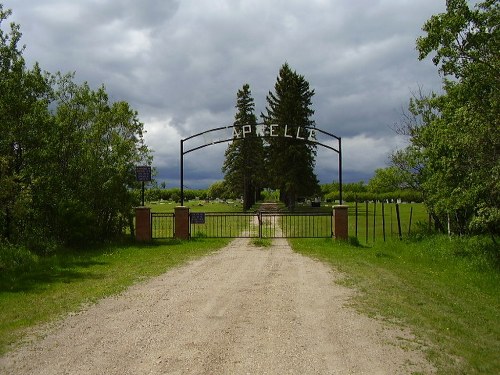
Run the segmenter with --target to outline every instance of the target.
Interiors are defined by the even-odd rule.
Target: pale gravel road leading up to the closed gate
[[[0,374],[434,372],[407,331],[348,307],[337,277],[284,239],[236,239],[51,325]]]

